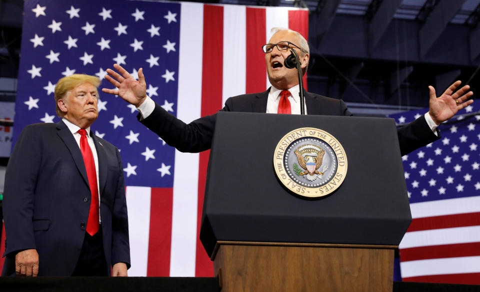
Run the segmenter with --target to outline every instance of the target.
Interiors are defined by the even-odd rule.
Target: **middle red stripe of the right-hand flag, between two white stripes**
[[[480,243],[464,243],[400,249],[401,262],[480,256]]]

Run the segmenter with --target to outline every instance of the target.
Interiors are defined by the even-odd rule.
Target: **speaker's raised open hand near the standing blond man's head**
[[[120,96],[126,102],[138,107],[146,98],[146,83],[143,69],[138,70],[138,81],[133,78],[122,66],[113,64],[120,74],[108,68],[105,79],[108,80],[117,89],[102,88],[101,91]],[[111,76],[110,76],[111,75]]]

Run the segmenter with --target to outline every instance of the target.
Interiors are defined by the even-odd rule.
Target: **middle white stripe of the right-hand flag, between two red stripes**
[[[480,242],[480,226],[442,228],[407,232],[400,249]]]

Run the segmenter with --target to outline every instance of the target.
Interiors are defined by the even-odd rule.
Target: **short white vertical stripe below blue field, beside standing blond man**
[[[128,276],[146,277],[150,235],[151,188],[126,187],[130,264]]]

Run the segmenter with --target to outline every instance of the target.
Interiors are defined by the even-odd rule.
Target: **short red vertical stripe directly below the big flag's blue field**
[[[151,188],[146,276],[170,276],[172,188]]]

